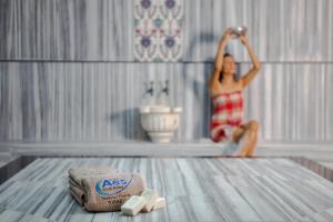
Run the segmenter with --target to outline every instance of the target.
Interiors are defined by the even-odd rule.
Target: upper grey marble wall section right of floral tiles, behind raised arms
[[[245,26],[250,44],[263,61],[332,61],[331,0],[188,0],[184,60],[211,60],[229,27]],[[249,61],[239,41],[229,51]],[[213,53],[212,53],[213,52]]]

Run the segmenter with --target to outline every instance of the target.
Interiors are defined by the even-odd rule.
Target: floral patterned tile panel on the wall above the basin
[[[179,61],[182,54],[182,0],[137,0],[135,60]]]

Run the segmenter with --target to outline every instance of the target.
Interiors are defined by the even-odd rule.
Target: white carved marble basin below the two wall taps
[[[180,107],[144,105],[140,108],[141,125],[153,142],[168,143],[179,127]]]

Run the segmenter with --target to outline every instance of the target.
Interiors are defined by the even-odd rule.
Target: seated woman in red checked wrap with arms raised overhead
[[[254,153],[258,138],[258,121],[242,123],[243,89],[260,71],[260,61],[249,46],[246,36],[240,36],[240,41],[246,48],[252,69],[238,79],[235,62],[231,54],[224,53],[228,41],[232,38],[232,30],[228,29],[219,44],[214,60],[214,70],[210,79],[210,93],[213,100],[214,113],[211,123],[211,138],[214,142],[228,141],[238,143],[226,154],[236,157],[251,157]]]

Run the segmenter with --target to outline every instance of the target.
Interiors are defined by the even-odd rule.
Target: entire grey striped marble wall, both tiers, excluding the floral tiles
[[[176,141],[209,137],[206,82],[226,27],[245,24],[263,62],[244,91],[264,142],[333,142],[333,2],[185,0],[183,57],[139,63],[132,0],[0,0],[0,141],[127,141],[138,107],[182,105]],[[239,71],[250,68],[236,41]],[[161,95],[170,81],[170,97]],[[154,81],[151,98],[147,83]]]

